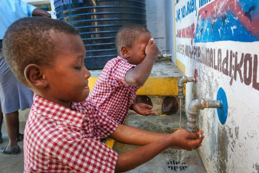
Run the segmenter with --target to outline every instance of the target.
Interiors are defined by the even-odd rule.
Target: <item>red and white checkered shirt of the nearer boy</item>
[[[118,153],[101,143],[118,124],[88,100],[71,109],[34,95],[24,131],[24,172],[114,172]]]

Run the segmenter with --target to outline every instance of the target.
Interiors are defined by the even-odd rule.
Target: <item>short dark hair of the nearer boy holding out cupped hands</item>
[[[4,57],[23,85],[27,86],[24,76],[27,65],[50,65],[53,62],[58,53],[55,45],[59,41],[55,35],[60,33],[78,34],[65,22],[43,17],[22,18],[9,26],[3,38]]]

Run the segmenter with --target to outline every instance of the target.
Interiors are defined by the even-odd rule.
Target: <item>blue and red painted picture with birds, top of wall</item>
[[[259,41],[259,1],[217,0],[198,12],[195,42]]]

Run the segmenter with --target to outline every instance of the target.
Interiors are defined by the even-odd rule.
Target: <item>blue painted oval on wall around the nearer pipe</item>
[[[221,108],[217,109],[219,121],[221,124],[225,124],[227,121],[227,96],[223,88],[219,88],[218,94],[217,94],[217,100],[220,101]]]

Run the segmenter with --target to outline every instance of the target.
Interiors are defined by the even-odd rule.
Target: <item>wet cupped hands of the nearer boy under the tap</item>
[[[202,146],[202,140],[204,136],[202,136],[203,131],[199,132],[199,128],[197,128],[196,133],[188,132],[184,129],[178,129],[172,135],[174,136],[175,144],[172,148],[176,149],[185,149],[191,151],[193,149],[197,149]]]

